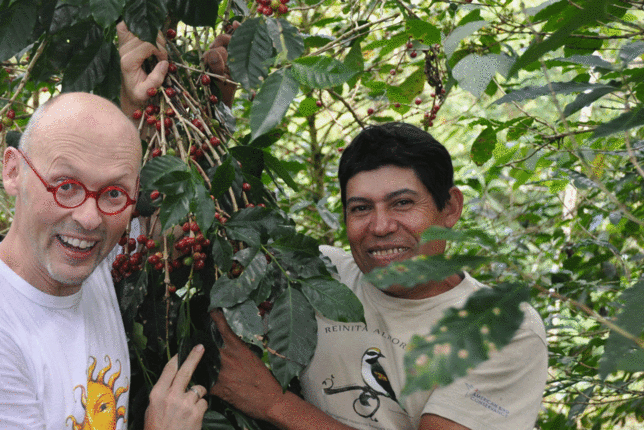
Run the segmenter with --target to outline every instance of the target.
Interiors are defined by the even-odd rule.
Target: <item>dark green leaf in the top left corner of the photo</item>
[[[0,62],[18,54],[34,41],[32,33],[38,18],[38,4],[34,1],[15,2],[3,9],[0,14]]]

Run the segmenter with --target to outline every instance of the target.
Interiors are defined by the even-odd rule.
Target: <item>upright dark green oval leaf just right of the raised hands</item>
[[[228,44],[228,66],[236,82],[244,88],[257,88],[268,74],[266,61],[273,55],[273,43],[262,18],[251,18],[240,25]]]

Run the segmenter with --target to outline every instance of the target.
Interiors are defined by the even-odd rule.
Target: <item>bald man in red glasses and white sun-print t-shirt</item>
[[[32,116],[2,179],[15,215],[0,242],[0,428],[126,429],[130,365],[109,272],[138,194],[141,145],[121,110],[69,93]],[[203,348],[173,358],[148,429],[201,429],[206,389],[187,389]]]

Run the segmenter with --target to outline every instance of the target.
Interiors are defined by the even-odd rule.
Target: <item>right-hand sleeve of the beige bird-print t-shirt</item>
[[[471,430],[532,430],[545,389],[548,354],[536,311],[528,312],[526,320],[510,344],[468,375],[437,388],[423,414]]]

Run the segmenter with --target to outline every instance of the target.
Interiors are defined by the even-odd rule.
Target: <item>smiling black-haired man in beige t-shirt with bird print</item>
[[[428,227],[451,228],[461,216],[463,195],[447,150],[409,124],[373,126],[343,151],[338,177],[351,254],[320,249],[362,301],[367,324],[317,317],[317,349],[300,378],[304,401],[282,393],[222,314],[213,313],[226,344],[213,392],[287,430],[531,430],[548,357],[543,323],[526,303],[523,324],[499,353],[449,386],[399,403],[411,336],[429,333],[447,309],[487,288],[467,273],[384,291],[364,278],[393,261],[445,251],[445,241],[420,239]]]

